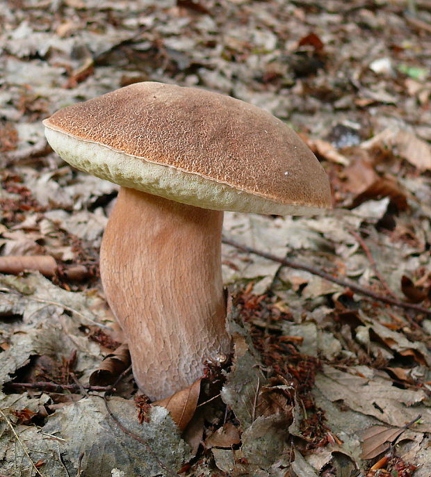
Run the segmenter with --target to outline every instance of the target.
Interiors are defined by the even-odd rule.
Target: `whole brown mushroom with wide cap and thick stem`
[[[230,351],[221,273],[223,211],[317,213],[330,185],[314,154],[257,106],[144,82],[44,120],[79,170],[120,184],[101,282],[152,399],[198,380]]]

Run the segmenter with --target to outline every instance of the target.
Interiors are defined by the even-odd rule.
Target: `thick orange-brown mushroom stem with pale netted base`
[[[122,187],[101,243],[101,281],[152,399],[229,353],[221,273],[223,213]]]

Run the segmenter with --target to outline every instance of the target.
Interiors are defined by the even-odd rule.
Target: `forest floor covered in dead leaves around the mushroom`
[[[270,111],[334,197],[225,214],[252,249],[222,250],[235,354],[184,439],[131,375],[88,387],[121,341],[98,265],[117,186],[42,126],[147,80]],[[430,95],[429,0],[1,1],[0,254],[52,257],[51,277],[0,275],[1,476],[430,477]]]

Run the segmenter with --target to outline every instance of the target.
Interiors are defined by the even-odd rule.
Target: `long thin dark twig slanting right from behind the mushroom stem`
[[[357,285],[354,282],[351,282],[350,280],[343,280],[342,278],[333,277],[329,273],[325,273],[323,270],[320,270],[319,268],[315,268],[309,265],[299,264],[296,261],[291,261],[288,259],[282,259],[280,257],[277,257],[276,255],[266,253],[266,252],[261,252],[259,250],[255,250],[254,248],[247,247],[247,245],[241,245],[240,243],[236,243],[235,241],[230,239],[223,238],[222,242],[226,243],[227,245],[231,245],[232,247],[238,248],[238,250],[243,250],[243,252],[252,253],[255,255],[259,255],[259,257],[276,261],[277,263],[282,264],[284,266],[295,268],[297,270],[304,270],[306,272],[311,273],[312,275],[321,277],[324,280],[327,280],[328,282],[333,282],[340,286],[345,286],[346,288],[350,288],[350,290],[354,291],[355,293],[359,293],[364,296],[369,296],[373,298],[373,300],[381,301],[383,303],[387,303],[388,305],[393,305],[394,307],[412,309],[416,313],[423,313],[425,315],[431,316],[431,309],[420,307],[419,305],[414,305],[413,303],[407,303],[400,300],[396,300],[394,298],[389,298],[387,296],[380,295],[380,293],[375,293],[374,291],[370,289],[366,289],[364,288],[364,286]]]

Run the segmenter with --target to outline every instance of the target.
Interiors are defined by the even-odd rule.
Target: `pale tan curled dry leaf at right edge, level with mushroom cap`
[[[401,129],[384,129],[366,143],[362,144],[366,149],[391,149],[414,165],[418,170],[431,170],[431,148],[424,140],[417,138],[409,131]]]

